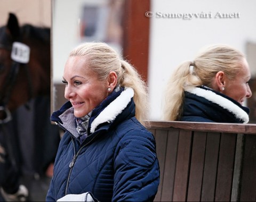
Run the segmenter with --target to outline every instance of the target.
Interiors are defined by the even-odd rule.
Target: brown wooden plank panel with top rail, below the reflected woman
[[[155,201],[256,201],[256,124],[158,122]]]

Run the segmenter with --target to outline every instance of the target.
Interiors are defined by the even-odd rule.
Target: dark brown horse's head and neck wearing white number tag
[[[10,13],[0,28],[0,122],[29,99],[50,95],[50,65],[50,28],[20,27]]]

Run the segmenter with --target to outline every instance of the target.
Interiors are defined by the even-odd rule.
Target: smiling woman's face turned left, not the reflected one
[[[108,95],[108,81],[99,80],[87,63],[82,56],[69,57],[63,73],[65,98],[73,105],[76,117],[91,112]]]

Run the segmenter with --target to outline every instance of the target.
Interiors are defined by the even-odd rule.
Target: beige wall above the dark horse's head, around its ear
[[[51,26],[51,0],[0,0],[0,26],[6,24],[9,12],[18,16],[20,25]]]

